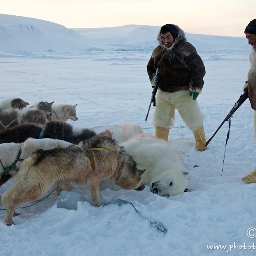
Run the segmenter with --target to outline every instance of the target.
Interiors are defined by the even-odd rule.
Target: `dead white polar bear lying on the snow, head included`
[[[125,124],[122,132],[118,142],[132,155],[139,169],[146,169],[142,183],[149,185],[151,192],[161,196],[184,192],[189,172],[185,170],[181,156],[167,141],[144,134],[137,124]],[[101,181],[100,188],[120,189],[109,181]]]

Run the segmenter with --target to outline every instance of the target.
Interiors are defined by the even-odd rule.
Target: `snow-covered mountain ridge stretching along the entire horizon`
[[[35,18],[0,14],[0,51],[152,51],[160,26],[68,29]],[[249,51],[246,38],[186,33],[198,52]]]

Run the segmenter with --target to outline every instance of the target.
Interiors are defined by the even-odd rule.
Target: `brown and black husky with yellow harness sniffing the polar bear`
[[[87,184],[96,206],[100,206],[100,180],[110,179],[125,190],[137,189],[143,172],[123,147],[103,136],[84,141],[82,147],[38,150],[23,161],[3,194],[1,204],[8,204],[5,224],[14,224],[16,207],[40,199],[57,183]]]

